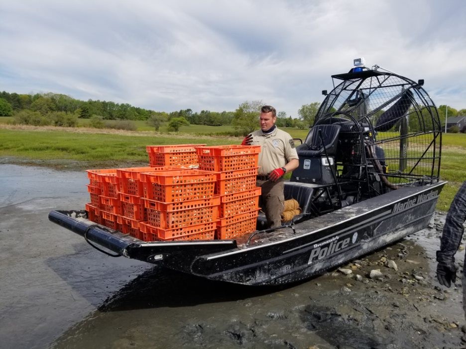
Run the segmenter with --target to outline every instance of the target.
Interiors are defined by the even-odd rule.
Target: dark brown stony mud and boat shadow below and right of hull
[[[446,289],[433,271],[444,218],[436,212],[429,229],[287,288],[154,268],[52,347],[462,348],[461,280]]]

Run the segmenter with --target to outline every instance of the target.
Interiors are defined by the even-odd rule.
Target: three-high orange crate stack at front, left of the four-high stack
[[[144,241],[212,240],[220,198],[216,173],[200,170],[140,174],[147,221],[139,223]]]

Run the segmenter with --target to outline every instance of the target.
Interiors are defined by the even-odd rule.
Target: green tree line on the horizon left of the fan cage
[[[245,101],[235,111],[195,112],[192,109],[165,112],[132,106],[128,103],[112,101],[87,101],[72,98],[60,93],[18,94],[0,92],[0,116],[14,116],[18,123],[32,125],[76,126],[78,118],[91,119],[91,126],[106,127],[109,120],[147,120],[155,130],[168,123],[169,130],[178,131],[182,125],[196,124],[207,126],[233,125],[241,132],[257,128],[257,112],[261,101]],[[312,125],[319,103],[306,104],[293,118],[286,112],[278,113],[277,126],[307,128]],[[120,123],[121,124],[121,123]],[[249,132],[249,131],[248,131]]]

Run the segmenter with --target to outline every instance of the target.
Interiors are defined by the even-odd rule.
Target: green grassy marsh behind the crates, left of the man
[[[74,167],[90,165],[100,168],[122,164],[147,164],[147,145],[168,144],[232,144],[229,138],[194,137],[192,135],[155,135],[144,132],[86,132],[84,129],[0,129],[0,157],[14,157],[21,163],[56,164],[56,160],[81,162]]]

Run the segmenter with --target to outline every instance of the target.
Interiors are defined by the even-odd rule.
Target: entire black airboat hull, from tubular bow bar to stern
[[[238,245],[233,240],[144,243],[65,212],[52,211],[49,219],[127,258],[213,280],[273,285],[318,275],[427,227],[445,183],[401,187]]]

